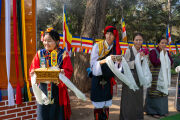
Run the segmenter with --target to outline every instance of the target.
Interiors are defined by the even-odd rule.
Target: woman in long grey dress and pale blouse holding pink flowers
[[[142,49],[143,35],[137,33],[134,36],[134,45],[126,50],[124,58],[126,59],[135,82],[139,87],[139,90],[133,91],[127,85],[122,85],[121,95],[121,108],[120,108],[120,120],[143,120],[143,86],[140,85],[138,78],[135,57],[140,53],[142,58],[145,54]]]

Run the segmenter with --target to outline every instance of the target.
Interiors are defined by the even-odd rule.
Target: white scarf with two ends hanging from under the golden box
[[[59,79],[69,88],[71,89],[76,96],[79,99],[86,100],[86,96],[62,73],[59,73]],[[36,83],[36,75],[34,74],[31,76],[31,84],[32,84],[32,89],[34,92],[34,96],[36,98],[36,101],[39,104],[44,104],[48,105],[51,103],[51,101],[48,99],[48,97],[44,94],[44,92],[38,87]]]

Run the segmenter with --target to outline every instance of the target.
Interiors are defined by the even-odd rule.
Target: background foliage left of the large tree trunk
[[[63,5],[66,6],[70,32],[74,36],[80,35],[86,0],[38,0],[37,3],[38,48],[43,47],[40,42],[40,30],[45,31],[48,27],[53,27],[63,33]]]

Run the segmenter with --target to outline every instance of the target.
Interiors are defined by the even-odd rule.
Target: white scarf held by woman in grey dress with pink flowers
[[[151,86],[152,74],[148,66],[147,56],[143,57],[143,62],[141,64],[140,53],[135,57],[136,71],[140,81],[140,85],[148,88]]]

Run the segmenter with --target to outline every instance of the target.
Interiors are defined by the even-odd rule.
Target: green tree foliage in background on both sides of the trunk
[[[48,26],[62,33],[64,3],[69,29],[72,35],[80,36],[87,0],[38,1],[43,1],[45,4],[37,10],[38,39],[39,30],[45,30]],[[114,25],[119,32],[121,32],[121,18],[124,17],[128,41],[132,41],[135,32],[142,32],[146,42],[155,43],[159,37],[165,36],[167,24],[170,24],[172,41],[180,42],[179,0],[171,0],[171,19],[169,19],[167,0],[109,0],[106,10],[105,25]]]

